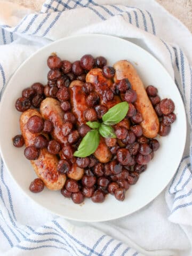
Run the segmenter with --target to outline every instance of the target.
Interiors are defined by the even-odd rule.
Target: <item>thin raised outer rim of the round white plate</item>
[[[117,40],[119,40],[119,41],[124,41],[124,42],[126,42],[127,44],[131,44],[133,47],[136,47],[136,48],[139,47],[141,51],[144,51],[146,54],[150,55],[150,58],[152,58],[153,61],[157,62],[158,65],[161,65],[161,67],[163,68],[164,72],[171,78],[172,82],[174,83],[174,81],[173,81],[171,75],[169,74],[169,72],[165,69],[165,67],[162,65],[162,63],[161,63],[158,59],[156,59],[156,58],[154,57],[154,55],[152,55],[152,54],[151,54],[150,52],[148,52],[147,50],[143,49],[141,46],[139,46],[139,45],[137,45],[137,44],[135,44],[135,43],[130,42],[128,39],[124,39],[124,38],[121,38],[121,37],[118,37],[118,36],[114,36],[114,35],[105,35],[105,34],[79,34],[79,35],[73,35],[73,36],[68,36],[68,37],[60,38],[60,39],[58,39],[57,41],[51,42],[51,43],[49,43],[49,44],[47,44],[47,45],[44,45],[43,47],[41,47],[40,49],[38,49],[37,51],[35,51],[34,53],[32,53],[25,61],[23,61],[23,63],[22,63],[22,64],[14,71],[14,73],[11,75],[11,77],[10,77],[9,81],[7,82],[7,84],[6,84],[5,88],[4,88],[4,90],[2,91],[2,98],[1,98],[1,102],[0,102],[0,116],[1,116],[1,112],[3,111],[3,110],[2,110],[3,102],[4,102],[4,100],[6,99],[6,98],[5,98],[6,91],[9,90],[9,85],[12,83],[12,81],[14,81],[14,76],[15,76],[15,74],[17,74],[17,72],[18,72],[20,69],[22,69],[23,66],[25,66],[26,62],[28,62],[31,58],[34,57],[34,55],[38,54],[38,53],[41,52],[42,50],[45,50],[46,48],[49,48],[50,45],[52,46],[52,45],[58,44],[58,43],[60,43],[60,42],[62,42],[62,41],[65,42],[66,40],[71,39],[71,38],[87,37],[87,36],[88,36],[88,37],[109,37],[109,38],[112,37],[112,38],[115,38],[115,39],[117,39]],[[174,85],[175,85],[175,83],[174,83]],[[186,109],[185,109],[185,106],[184,106],[184,103],[183,103],[183,100],[182,100],[182,97],[181,97],[181,94],[180,94],[180,92],[179,92],[179,90],[178,90],[177,85],[175,85],[175,89],[177,89],[177,91],[178,91],[178,93],[179,93],[179,96],[180,96],[180,99],[181,99],[181,102],[182,102],[183,114],[185,113],[185,115],[183,115],[183,116],[185,117],[185,122],[183,122],[183,127],[185,128],[185,131],[183,132],[183,138],[184,138],[184,140],[183,140],[183,145],[182,145],[182,146],[183,146],[183,147],[182,147],[182,154],[181,154],[181,157],[180,157],[180,159],[179,159],[179,161],[178,161],[178,164],[177,164],[177,169],[178,169],[178,166],[179,166],[179,163],[181,162],[181,159],[182,159],[182,156],[183,156],[183,152],[184,152],[184,150],[185,150],[185,145],[186,145],[186,138],[187,138],[187,117],[186,117]],[[180,106],[180,107],[181,107],[181,106]],[[183,120],[183,121],[184,121],[184,120]],[[1,140],[0,140],[0,142],[1,142]],[[123,218],[123,217],[125,217],[125,216],[127,216],[127,215],[130,215],[130,214],[132,214],[132,213],[134,213],[134,212],[139,211],[139,210],[142,209],[143,207],[147,206],[149,203],[153,202],[154,199],[155,199],[158,195],[160,195],[160,194],[162,193],[162,191],[167,187],[167,185],[169,185],[169,182],[173,179],[175,173],[177,172],[177,169],[175,169],[175,171],[174,171],[174,173],[173,173],[171,179],[170,179],[169,182],[167,182],[164,186],[162,186],[161,191],[158,191],[157,195],[156,195],[155,197],[153,196],[153,199],[150,198],[150,199],[148,200],[148,202],[147,202],[145,205],[141,205],[140,207],[138,207],[137,210],[132,210],[132,211],[130,211],[128,214],[122,214],[122,215],[119,214],[119,217],[117,217],[117,218],[116,218],[116,217],[111,217],[111,218],[107,218],[107,217],[106,217],[106,218],[103,218],[102,220],[97,220],[97,219],[85,220],[85,219],[77,219],[77,218],[66,217],[66,216],[64,216],[64,215],[62,215],[62,214],[60,214],[60,213],[55,212],[54,210],[48,209],[46,206],[41,205],[41,203],[37,202],[33,197],[31,197],[29,194],[27,194],[27,192],[19,185],[19,183],[17,182],[17,180],[14,179],[14,177],[13,177],[11,171],[10,171],[9,168],[7,167],[6,161],[4,161],[4,153],[3,153],[3,151],[2,151],[2,143],[0,143],[0,153],[1,153],[1,157],[2,157],[2,159],[3,159],[3,163],[4,163],[5,167],[6,167],[6,170],[9,172],[11,178],[12,178],[12,179],[14,180],[14,182],[17,184],[18,188],[21,189],[22,192],[23,192],[27,197],[29,197],[29,198],[30,198],[31,200],[33,200],[37,205],[43,207],[43,209],[46,209],[47,211],[49,211],[50,213],[52,213],[52,214],[54,214],[54,215],[58,215],[58,216],[60,216],[60,217],[62,217],[62,218],[66,218],[66,219],[69,219],[69,220],[81,221],[81,222],[103,222],[103,221],[110,221],[110,220],[115,220],[115,219]]]

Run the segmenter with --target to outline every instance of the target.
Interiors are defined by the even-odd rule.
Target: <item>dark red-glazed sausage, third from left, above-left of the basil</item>
[[[75,80],[69,86],[71,108],[78,125],[85,123],[83,113],[89,108],[86,103],[86,95],[82,91],[83,84],[83,82]]]

